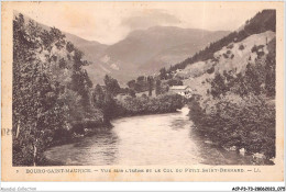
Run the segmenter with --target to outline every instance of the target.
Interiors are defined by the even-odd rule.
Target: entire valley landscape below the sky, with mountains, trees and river
[[[275,163],[275,11],[112,45],[21,13],[13,32],[15,166]]]

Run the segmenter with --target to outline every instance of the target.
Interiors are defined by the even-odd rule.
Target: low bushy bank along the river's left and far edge
[[[108,115],[108,121],[78,121],[72,123],[70,129],[62,129],[55,134],[57,139],[52,140],[47,148],[77,143],[85,137],[89,137],[113,127],[111,121],[152,114],[174,113],[184,106],[184,98],[177,94],[163,94],[156,98],[140,97],[128,98],[124,101],[116,101],[112,105],[112,111]],[[107,115],[103,115],[107,116]],[[41,165],[47,165],[46,159],[43,159]],[[57,162],[52,162],[56,163]]]

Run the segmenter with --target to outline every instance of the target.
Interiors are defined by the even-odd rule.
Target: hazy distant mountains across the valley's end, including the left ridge
[[[18,12],[14,12],[14,15],[16,14]],[[34,21],[26,15],[24,18],[26,22]],[[51,29],[34,22],[43,30]],[[162,67],[183,60],[229,32],[153,26],[133,31],[113,45],[87,41],[67,32],[63,34],[66,35],[67,41],[84,52],[84,58],[89,61],[85,69],[92,82],[102,83],[105,75],[108,74],[117,78],[121,84],[125,84],[139,75],[152,75]]]

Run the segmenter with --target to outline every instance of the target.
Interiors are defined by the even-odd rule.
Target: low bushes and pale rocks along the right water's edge
[[[204,105],[204,106],[201,106]],[[275,108],[264,100],[189,102],[189,118],[212,145],[242,156],[255,165],[273,165],[275,158]]]

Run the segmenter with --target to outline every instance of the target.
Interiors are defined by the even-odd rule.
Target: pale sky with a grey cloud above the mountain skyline
[[[253,18],[255,3],[231,2],[16,2],[14,10],[89,41],[114,44],[155,25],[234,31]]]

